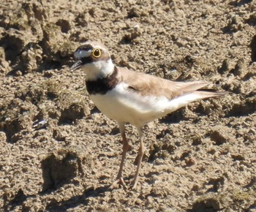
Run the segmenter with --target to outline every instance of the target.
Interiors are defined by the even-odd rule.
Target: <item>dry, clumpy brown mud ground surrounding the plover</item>
[[[256,3],[1,1],[1,211],[256,211]],[[121,67],[208,80],[230,94],[145,126],[137,190],[108,186],[115,121],[90,101],[72,53],[99,39]],[[136,130],[125,181],[135,173]]]

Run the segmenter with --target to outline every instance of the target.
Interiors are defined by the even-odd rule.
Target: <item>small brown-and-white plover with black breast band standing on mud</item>
[[[190,102],[227,93],[204,88],[210,84],[206,81],[178,82],[118,67],[113,63],[108,48],[94,40],[82,43],[75,50],[74,57],[71,71],[80,69],[85,73],[86,89],[92,102],[105,116],[117,121],[121,133],[121,163],[116,180],[110,188],[117,185],[127,188],[122,172],[131,146],[125,134],[125,124],[131,124],[138,130],[138,164],[130,184],[135,189],[145,152],[143,126]]]

